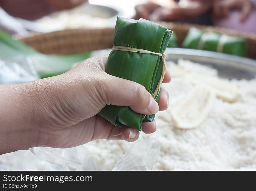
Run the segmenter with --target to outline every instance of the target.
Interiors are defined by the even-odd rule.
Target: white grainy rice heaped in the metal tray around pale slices
[[[183,130],[174,127],[171,113],[195,87],[186,75],[217,76],[218,71],[179,60],[178,65],[170,64],[170,72],[171,83],[163,84],[169,92],[169,108],[157,113],[157,131],[150,135],[141,133],[139,138],[154,139],[161,145],[153,169],[256,170],[256,79],[228,81],[241,92],[241,97],[234,103],[216,98],[209,115],[200,125]],[[96,140],[79,146],[79,152],[90,153],[97,169],[111,170],[131,144],[125,141]],[[0,156],[0,168],[17,169],[17,166],[23,165],[24,169],[59,169],[36,158],[30,151],[25,152]],[[13,160],[15,156],[19,160]]]

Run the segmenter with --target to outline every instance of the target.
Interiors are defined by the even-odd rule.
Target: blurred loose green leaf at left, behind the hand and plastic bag
[[[66,72],[74,64],[89,58],[90,52],[72,55],[45,55],[0,30],[0,57],[12,59],[29,57],[40,77],[46,78]]]

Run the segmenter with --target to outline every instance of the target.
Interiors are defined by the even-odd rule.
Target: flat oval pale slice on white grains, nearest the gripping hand
[[[205,85],[197,85],[172,111],[175,127],[182,129],[195,128],[208,116],[215,94]]]

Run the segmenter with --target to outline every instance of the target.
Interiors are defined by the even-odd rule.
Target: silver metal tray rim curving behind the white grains
[[[249,58],[181,48],[167,48],[166,53],[168,54],[168,61],[177,62],[179,58],[183,58],[216,68],[222,78],[253,79],[256,77],[256,60]]]

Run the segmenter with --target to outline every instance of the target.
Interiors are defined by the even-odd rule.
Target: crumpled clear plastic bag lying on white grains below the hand
[[[89,151],[83,149],[83,152],[80,152],[79,148],[35,147],[30,151],[38,158],[62,167],[64,170],[100,170],[97,169]],[[157,141],[137,140],[112,170],[152,170],[159,151],[160,144]]]

